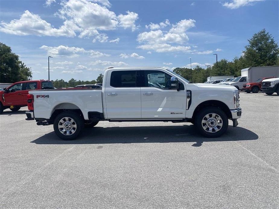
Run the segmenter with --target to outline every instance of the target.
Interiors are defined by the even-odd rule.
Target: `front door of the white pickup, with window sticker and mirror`
[[[141,73],[144,75],[144,85],[141,87],[141,118],[185,118],[185,87],[180,91],[170,89],[172,75],[161,70],[141,70]]]

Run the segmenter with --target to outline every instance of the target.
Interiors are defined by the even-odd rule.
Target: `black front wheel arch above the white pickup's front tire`
[[[206,107],[217,107],[224,111],[224,113],[227,115],[228,118],[232,118],[232,113],[230,111],[230,108],[222,101],[219,100],[207,100],[201,102],[194,110],[192,118],[194,119],[198,113],[203,108]]]

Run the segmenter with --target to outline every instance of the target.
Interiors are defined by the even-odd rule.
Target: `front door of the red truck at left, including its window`
[[[8,88],[9,93],[4,94],[5,105],[21,105],[23,102],[23,83],[17,83]]]

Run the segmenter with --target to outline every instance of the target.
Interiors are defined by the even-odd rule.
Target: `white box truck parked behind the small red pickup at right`
[[[233,82],[226,85],[235,86],[237,89],[242,90],[243,84],[252,83],[259,78],[278,77],[279,66],[263,66],[263,67],[248,67],[241,70],[241,76],[237,77]]]

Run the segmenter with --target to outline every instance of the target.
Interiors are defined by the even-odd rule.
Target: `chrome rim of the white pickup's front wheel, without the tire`
[[[223,120],[220,115],[216,113],[209,113],[201,120],[201,126],[206,132],[216,133],[223,126]]]

